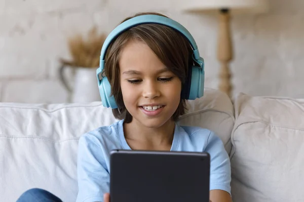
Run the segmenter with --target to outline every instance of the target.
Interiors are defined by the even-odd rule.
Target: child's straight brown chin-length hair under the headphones
[[[141,15],[167,17],[159,13],[138,13],[126,18],[123,22]],[[108,78],[111,85],[111,95],[114,96],[118,106],[118,109],[112,110],[113,115],[117,119],[125,119],[125,123],[130,123],[132,116],[123,101],[120,86],[119,58],[121,50],[130,40],[139,40],[146,43],[160,61],[181,80],[182,87],[187,78],[188,68],[193,64],[193,50],[188,40],[170,27],[159,24],[142,24],[120,34],[107,49],[103,73]],[[185,113],[185,110],[186,99],[181,97],[172,119],[175,121],[180,115]]]

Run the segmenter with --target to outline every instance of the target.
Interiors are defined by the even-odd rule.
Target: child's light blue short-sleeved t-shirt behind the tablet
[[[124,136],[123,120],[81,136],[78,147],[77,202],[103,201],[103,194],[109,192],[109,156],[112,149],[131,149]],[[230,193],[229,156],[222,141],[213,132],[200,127],[175,124],[171,151],[209,153],[210,190],[221,189]]]

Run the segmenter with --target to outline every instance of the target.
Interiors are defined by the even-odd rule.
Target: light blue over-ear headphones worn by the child
[[[115,98],[113,96],[110,96],[111,94],[111,86],[106,77],[103,77],[102,70],[104,69],[104,59],[106,55],[106,51],[110,43],[115,40],[121,33],[124,31],[135,27],[137,25],[141,24],[160,24],[167,27],[170,27],[178,32],[180,32],[182,35],[184,35],[189,43],[191,44],[193,48],[193,55],[192,58],[194,62],[196,63],[195,66],[192,66],[192,68],[189,68],[188,71],[188,78],[186,80],[186,83],[183,86],[181,97],[185,99],[196,99],[197,97],[201,97],[204,94],[204,80],[205,80],[205,73],[204,73],[204,59],[200,57],[199,50],[197,47],[197,44],[193,38],[193,36],[184,28],[181,24],[178,22],[166,18],[163,16],[158,15],[142,15],[137,16],[134,18],[131,18],[119,26],[117,26],[111,33],[107,36],[105,39],[101,54],[100,54],[100,64],[99,68],[96,71],[97,74],[97,80],[98,80],[98,87],[100,92],[100,97],[102,100],[102,105],[107,108],[116,109],[117,104],[115,101]]]

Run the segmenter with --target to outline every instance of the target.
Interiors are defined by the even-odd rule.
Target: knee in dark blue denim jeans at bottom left
[[[46,190],[33,188],[25,191],[17,202],[62,202],[62,200]]]

